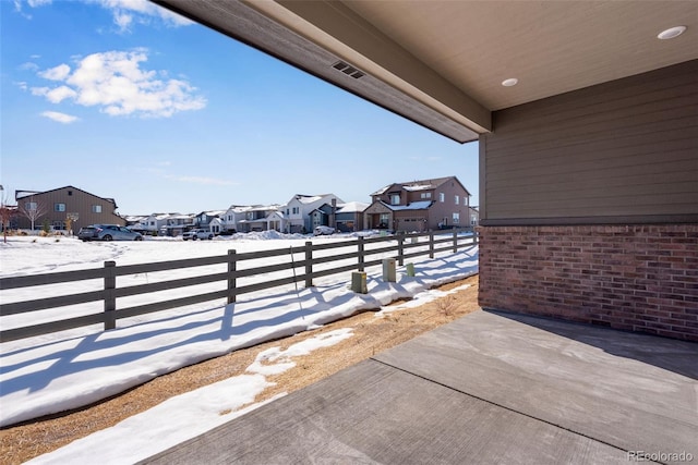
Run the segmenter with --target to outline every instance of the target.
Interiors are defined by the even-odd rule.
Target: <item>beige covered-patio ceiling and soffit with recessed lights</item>
[[[155,1],[458,142],[492,111],[698,59],[693,0]]]

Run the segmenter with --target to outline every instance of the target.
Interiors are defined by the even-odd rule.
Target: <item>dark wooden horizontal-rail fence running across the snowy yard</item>
[[[472,233],[472,234],[467,234]],[[15,341],[51,332],[64,331],[96,323],[103,323],[105,330],[116,328],[119,319],[136,317],[155,311],[201,304],[225,298],[228,304],[236,302],[239,295],[288,284],[304,283],[313,285],[316,278],[346,271],[364,271],[378,266],[386,254],[394,254],[399,266],[406,259],[453,252],[477,244],[477,235],[471,229],[455,229],[449,232],[408,233],[394,236],[358,237],[324,244],[305,242],[302,246],[238,254],[234,249],[227,255],[159,261],[153,264],[117,266],[115,261],[105,261],[104,268],[57,273],[43,273],[26,277],[0,278],[0,290],[26,289],[51,284],[75,283],[92,287],[89,291],[74,294],[56,295],[22,302],[0,304],[0,318],[33,311],[47,311],[71,305],[92,304],[87,315],[63,319],[51,319],[32,326],[3,329],[0,342]],[[380,255],[381,258],[375,258]],[[276,258],[273,265],[254,266],[255,260]],[[301,258],[302,257],[302,258]],[[330,265],[337,264],[334,267]],[[324,265],[324,266],[323,266]],[[215,271],[214,271],[215,268]],[[195,270],[186,278],[153,280],[158,273],[173,270]],[[117,286],[118,278],[134,276],[147,277],[145,284]],[[278,277],[277,277],[278,276]],[[220,282],[220,289],[184,296],[148,302],[147,304],[117,306],[117,299],[181,290],[196,285]],[[4,301],[4,298],[3,298]],[[94,310],[101,307],[101,311]],[[2,325],[5,328],[5,325]]]

